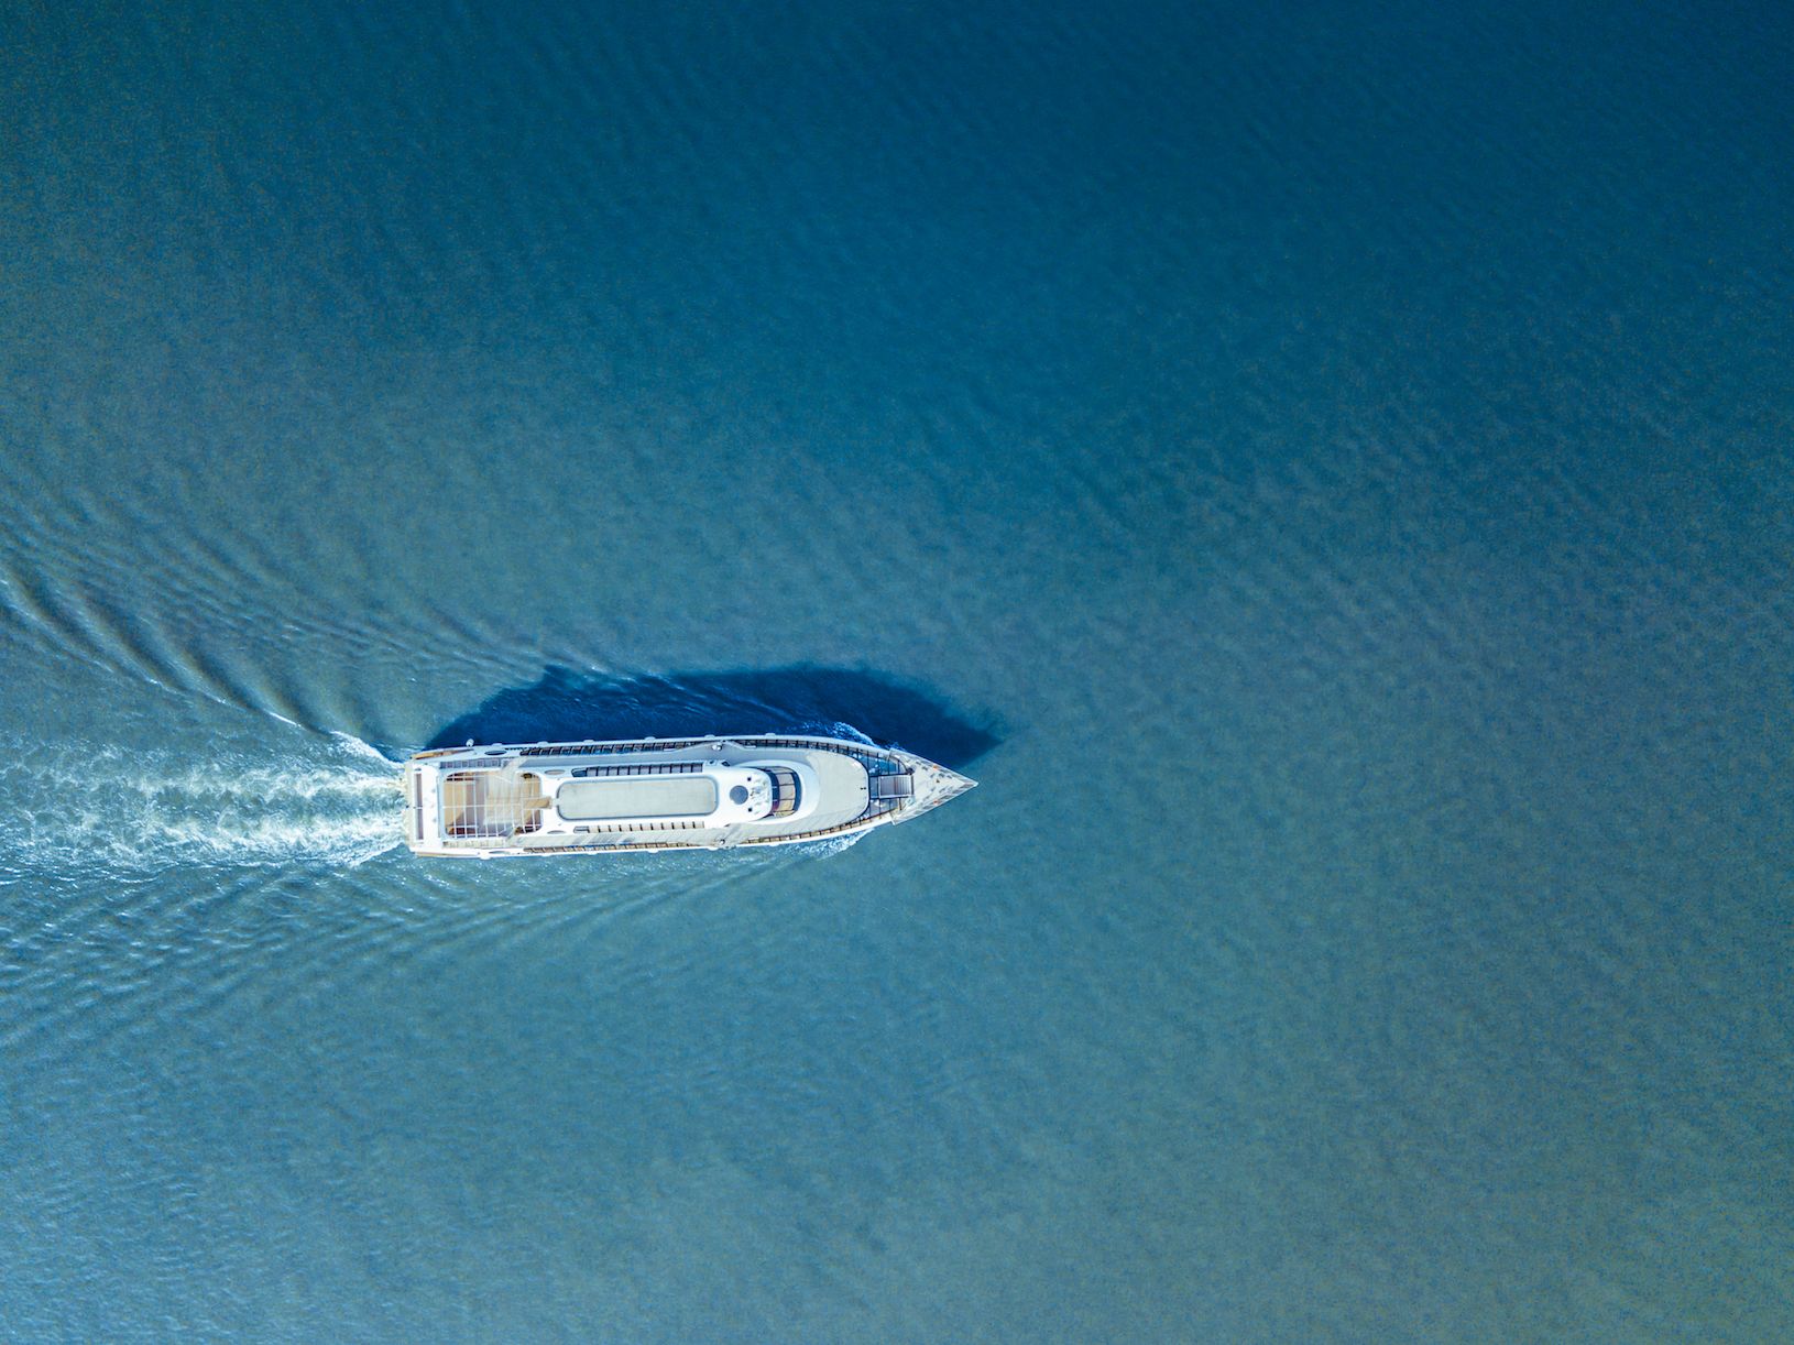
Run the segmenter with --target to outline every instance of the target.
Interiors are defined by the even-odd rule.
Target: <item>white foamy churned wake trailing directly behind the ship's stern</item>
[[[7,744],[0,852],[20,868],[361,864],[402,843],[398,766],[346,733],[210,759]]]

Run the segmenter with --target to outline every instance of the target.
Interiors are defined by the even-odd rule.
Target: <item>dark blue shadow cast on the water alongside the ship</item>
[[[468,739],[834,733],[843,725],[954,769],[1001,741],[927,692],[858,669],[793,665],[617,678],[551,665],[533,687],[495,692],[445,725],[431,746],[452,748]]]

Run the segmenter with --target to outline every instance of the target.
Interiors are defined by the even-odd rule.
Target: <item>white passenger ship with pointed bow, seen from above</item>
[[[405,762],[405,845],[479,859],[791,845],[910,821],[972,784],[836,737],[470,742]]]

